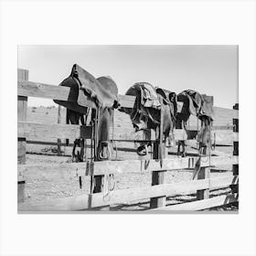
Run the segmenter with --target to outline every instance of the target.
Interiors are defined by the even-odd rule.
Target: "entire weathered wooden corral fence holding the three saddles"
[[[67,101],[69,88],[28,81],[28,70],[18,69],[17,81],[17,200],[18,211],[59,211],[59,210],[94,210],[109,209],[112,205],[138,202],[150,198],[150,210],[201,210],[238,202],[239,184],[239,112],[238,104],[232,111],[233,117],[233,155],[165,157],[157,159],[141,158],[138,160],[102,161],[63,164],[26,164],[27,141],[33,137],[38,141],[50,137],[67,139],[91,138],[91,127],[60,123],[27,122],[27,97]],[[134,97],[119,95],[121,106],[133,108]],[[213,127],[214,128],[214,127]],[[218,128],[215,133],[218,133]],[[219,127],[219,131],[221,127]],[[113,134],[114,135],[114,134]],[[146,135],[146,134],[145,134]],[[175,132],[176,140],[182,139],[184,131]],[[118,140],[117,140],[118,141]],[[59,144],[59,143],[58,143]],[[197,168],[200,165],[197,179],[168,184],[165,183],[166,172]],[[210,177],[210,167],[232,165],[232,176]],[[146,174],[152,175],[151,187],[135,187],[109,190],[108,175]],[[77,180],[84,176],[101,176],[100,193],[86,193],[72,197],[59,197],[30,201],[26,196],[26,185],[35,185],[35,189],[45,189],[48,182]],[[42,187],[40,187],[42,181]],[[215,188],[230,187],[231,193],[209,197],[209,191]],[[106,191],[108,191],[106,193]],[[197,193],[197,200],[187,203],[166,206],[166,197]],[[47,191],[46,191],[47,193]]]

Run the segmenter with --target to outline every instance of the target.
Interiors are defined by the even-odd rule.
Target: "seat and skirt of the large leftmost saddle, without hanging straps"
[[[84,113],[87,107],[117,108],[118,89],[110,77],[95,79],[88,71],[74,64],[69,77],[59,86],[70,88],[68,101],[56,101],[75,112]]]

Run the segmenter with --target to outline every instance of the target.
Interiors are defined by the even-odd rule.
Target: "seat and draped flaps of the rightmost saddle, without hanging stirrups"
[[[193,90],[186,90],[177,95],[177,101],[184,102],[181,113],[189,112],[198,118],[207,116],[211,121],[215,119],[213,97],[211,96]]]

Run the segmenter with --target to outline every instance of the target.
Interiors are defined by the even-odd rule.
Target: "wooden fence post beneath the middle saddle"
[[[163,124],[164,124],[164,111],[163,111],[163,104],[161,108],[161,118],[160,118],[160,139],[159,141],[155,141],[154,143],[154,152],[153,158],[159,159],[159,152],[161,151],[161,157],[165,158],[165,144],[163,144]],[[156,139],[156,138],[155,138]],[[162,159],[159,159],[162,161]],[[152,186],[160,185],[165,183],[165,173],[166,171],[160,172],[152,172]],[[166,197],[152,197],[150,198],[150,208],[165,208],[165,201]]]

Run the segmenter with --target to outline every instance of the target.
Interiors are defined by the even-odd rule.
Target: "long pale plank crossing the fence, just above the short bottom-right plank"
[[[195,192],[198,188],[228,187],[237,184],[236,176],[217,177],[204,180],[178,182],[173,184],[155,185],[153,187],[138,187],[112,191],[108,197],[103,193],[80,195],[76,197],[63,197],[52,200],[27,202],[20,204],[18,210],[78,210],[98,208],[113,204],[125,204],[135,200],[149,197],[184,195]]]

